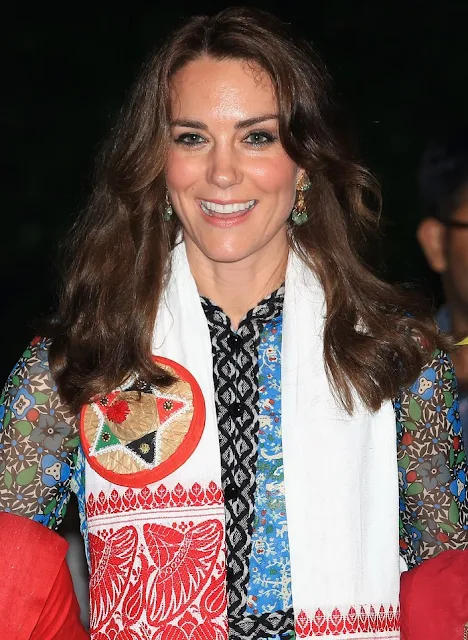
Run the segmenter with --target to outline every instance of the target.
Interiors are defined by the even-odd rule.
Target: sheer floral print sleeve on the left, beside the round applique
[[[56,529],[65,515],[79,444],[77,419],[62,403],[35,338],[0,397],[0,508]]]

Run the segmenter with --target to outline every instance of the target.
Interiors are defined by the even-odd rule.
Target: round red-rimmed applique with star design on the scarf
[[[205,427],[201,389],[187,369],[167,358],[155,361],[177,378],[167,389],[130,379],[81,410],[83,450],[103,478],[144,487],[188,460]]]

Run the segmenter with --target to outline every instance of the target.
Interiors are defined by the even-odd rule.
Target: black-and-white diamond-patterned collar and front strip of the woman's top
[[[202,305],[213,353],[213,378],[225,496],[229,637],[291,637],[292,607],[254,615],[248,611],[249,566],[255,518],[259,431],[258,350],[266,325],[282,314],[284,285],[231,328],[207,298]]]

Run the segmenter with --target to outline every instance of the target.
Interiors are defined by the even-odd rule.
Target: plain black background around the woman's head
[[[5,377],[54,305],[57,245],[83,206],[97,147],[149,52],[181,18],[228,3],[10,8],[3,44],[1,300]],[[425,139],[466,121],[467,0],[251,3],[315,43],[384,193],[386,276],[433,291],[415,241]],[[65,13],[66,11],[66,13]]]

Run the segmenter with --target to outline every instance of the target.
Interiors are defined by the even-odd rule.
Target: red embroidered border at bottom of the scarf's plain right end
[[[351,607],[343,615],[339,609],[334,609],[329,617],[317,609],[313,619],[301,611],[296,620],[296,634],[298,638],[320,636],[353,635],[356,633],[381,633],[400,630],[400,611],[390,605],[388,610],[382,605],[378,611],[370,607]]]

